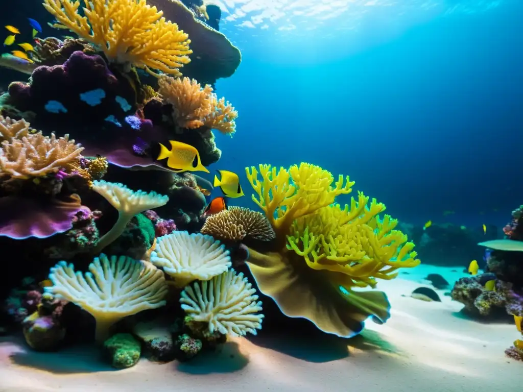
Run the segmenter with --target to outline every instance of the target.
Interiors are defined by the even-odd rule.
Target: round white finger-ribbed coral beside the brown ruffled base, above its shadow
[[[210,281],[196,282],[181,292],[180,304],[194,321],[207,322],[209,333],[256,335],[261,329],[261,301],[243,273],[229,270]]]

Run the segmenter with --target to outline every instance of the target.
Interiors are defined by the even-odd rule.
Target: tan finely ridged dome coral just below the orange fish
[[[231,241],[241,241],[245,237],[270,241],[276,237],[274,229],[263,214],[236,206],[209,216],[200,232]]]

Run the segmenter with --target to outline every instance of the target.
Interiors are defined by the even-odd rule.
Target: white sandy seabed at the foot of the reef
[[[192,362],[158,364],[141,359],[116,371],[94,349],[35,353],[20,341],[0,340],[1,392],[132,391],[390,391],[477,392],[518,389],[523,363],[504,350],[518,332],[513,324],[484,324],[459,313],[462,305],[438,291],[442,302],[408,296],[427,273],[452,284],[463,267],[419,266],[380,282],[392,317],[368,322],[363,336],[340,339],[264,337],[231,339]],[[404,296],[407,295],[407,296]],[[292,334],[292,331],[289,331]]]

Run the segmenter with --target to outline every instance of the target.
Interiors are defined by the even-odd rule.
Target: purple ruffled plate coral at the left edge
[[[72,195],[69,201],[3,197],[0,198],[0,236],[47,238],[63,233],[73,227],[76,214],[86,208],[77,195]]]

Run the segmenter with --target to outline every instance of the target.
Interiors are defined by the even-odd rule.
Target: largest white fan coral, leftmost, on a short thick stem
[[[151,264],[125,256],[100,255],[89,264],[89,272],[74,271],[73,264],[60,261],[51,268],[52,286],[44,290],[73,302],[96,319],[96,340],[103,342],[109,328],[123,317],[165,305],[165,276]]]

